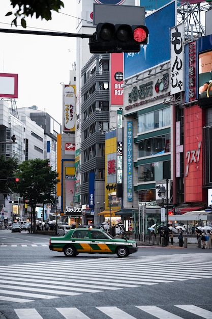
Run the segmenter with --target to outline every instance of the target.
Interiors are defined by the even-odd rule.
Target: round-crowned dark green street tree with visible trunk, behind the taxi
[[[19,182],[16,192],[28,200],[32,208],[34,230],[36,229],[36,205],[54,203],[58,173],[51,170],[48,159],[29,159],[19,164],[17,169]]]

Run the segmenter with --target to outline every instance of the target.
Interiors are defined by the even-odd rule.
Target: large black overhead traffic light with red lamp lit
[[[90,53],[140,52],[148,33],[145,25],[99,23],[89,39]]]

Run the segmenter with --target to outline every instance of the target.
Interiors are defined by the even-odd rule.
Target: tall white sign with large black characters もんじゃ
[[[170,94],[184,91],[184,24],[171,28]]]

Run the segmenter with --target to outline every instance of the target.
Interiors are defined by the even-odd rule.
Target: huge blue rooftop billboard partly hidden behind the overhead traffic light
[[[170,60],[170,28],[175,25],[175,2],[157,10],[145,19],[148,43],[138,53],[124,54],[124,78],[138,74]]]

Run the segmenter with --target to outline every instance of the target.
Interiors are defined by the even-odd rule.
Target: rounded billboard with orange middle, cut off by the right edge
[[[212,102],[212,35],[198,39],[198,87],[200,107],[211,107]]]

